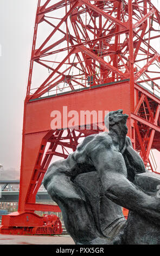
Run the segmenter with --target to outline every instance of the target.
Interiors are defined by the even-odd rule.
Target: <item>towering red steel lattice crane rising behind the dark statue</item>
[[[55,156],[66,158],[82,137],[101,130],[93,118],[91,129],[85,120],[71,129],[63,118],[69,111],[71,118],[80,111],[124,109],[133,147],[157,172],[150,152],[160,151],[159,25],[160,13],[150,0],[38,1],[24,102],[19,206],[3,217],[1,232],[17,227],[18,233],[22,223],[40,226],[36,210],[60,211],[35,202],[50,162]],[[63,106],[68,112],[53,129],[52,112],[62,114]]]

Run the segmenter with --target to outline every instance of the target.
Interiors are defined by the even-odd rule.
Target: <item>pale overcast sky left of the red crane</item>
[[[20,170],[23,102],[36,6],[37,0],[1,0],[0,163],[4,169]]]

